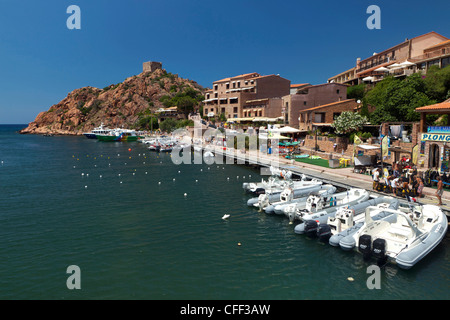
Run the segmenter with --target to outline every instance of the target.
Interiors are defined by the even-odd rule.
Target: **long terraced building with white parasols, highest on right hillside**
[[[385,75],[405,77],[416,72],[426,73],[432,65],[443,68],[450,64],[450,40],[434,31],[417,36],[374,53],[356,65],[328,79],[329,83],[355,85],[380,81]]]

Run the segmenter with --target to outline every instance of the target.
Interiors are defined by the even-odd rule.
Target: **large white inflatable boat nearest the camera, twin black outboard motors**
[[[444,238],[448,221],[435,205],[416,205],[410,209],[382,209],[391,215],[380,220],[372,218],[377,207],[367,207],[364,225],[352,236],[341,240],[341,248],[357,249],[366,260],[375,258],[410,269],[429,254]],[[344,241],[346,240],[346,241]]]

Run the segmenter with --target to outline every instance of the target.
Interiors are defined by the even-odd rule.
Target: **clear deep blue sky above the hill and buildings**
[[[67,7],[81,9],[69,30]],[[381,29],[369,30],[369,5]],[[324,83],[357,57],[430,31],[450,37],[448,0],[0,0],[0,123],[28,123],[77,88],[161,61],[183,78],[249,72]]]

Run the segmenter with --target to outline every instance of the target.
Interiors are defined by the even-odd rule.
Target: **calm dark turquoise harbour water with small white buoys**
[[[413,269],[383,268],[370,290],[361,255],[247,207],[255,169],[20,128],[0,126],[0,299],[450,298],[448,235]],[[81,290],[66,286],[69,265]]]

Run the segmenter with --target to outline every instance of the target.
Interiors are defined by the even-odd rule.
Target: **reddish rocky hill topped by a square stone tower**
[[[21,133],[80,135],[101,123],[110,128],[136,128],[143,115],[167,106],[167,98],[192,89],[199,97],[204,93],[195,81],[164,69],[142,72],[103,89],[84,87],[70,92],[48,111],[39,113]]]

